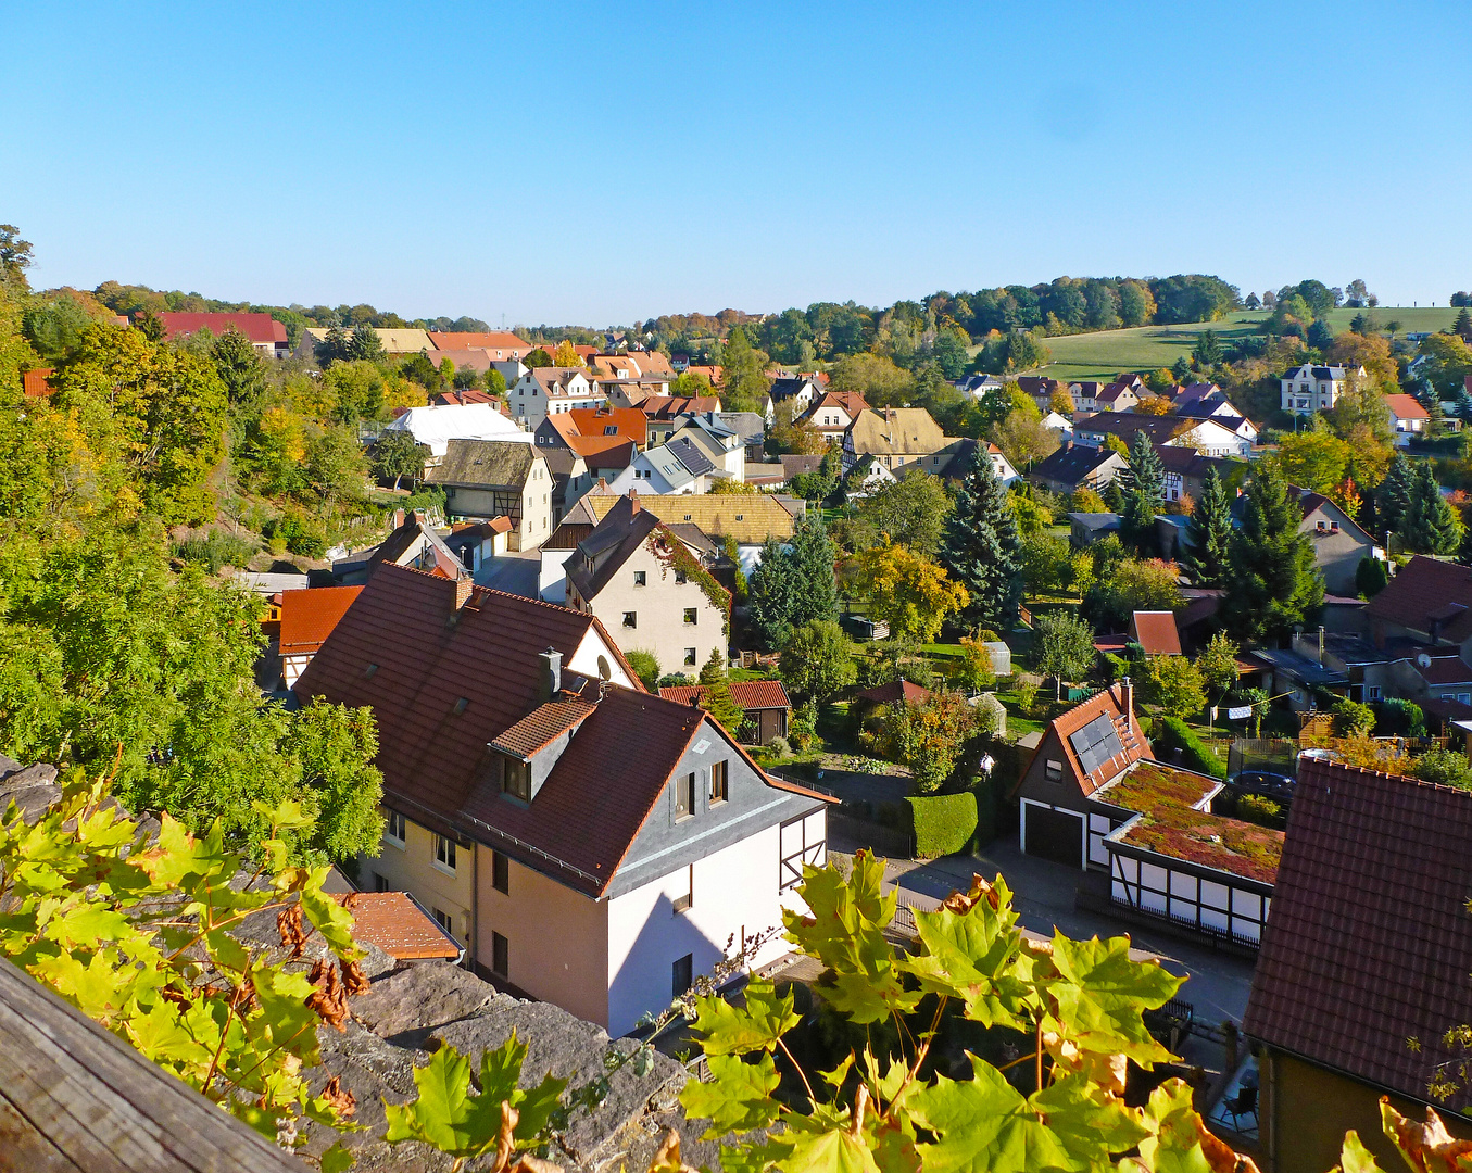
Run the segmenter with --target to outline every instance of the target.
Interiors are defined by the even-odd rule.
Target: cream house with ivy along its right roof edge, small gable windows
[[[652,652],[664,671],[695,676],[712,652],[727,656],[730,595],[699,562],[699,547],[710,543],[687,537],[630,493],[578,542],[564,570],[567,605],[596,615],[621,651]]]

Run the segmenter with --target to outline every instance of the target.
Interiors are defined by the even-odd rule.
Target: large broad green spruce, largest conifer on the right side
[[[1242,640],[1287,639],[1323,606],[1323,578],[1301,524],[1297,495],[1278,465],[1263,461],[1228,546],[1226,626]]]

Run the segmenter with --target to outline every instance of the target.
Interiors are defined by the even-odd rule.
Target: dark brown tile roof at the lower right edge
[[[1472,793],[1304,761],[1244,1030],[1428,1099],[1472,1021],[1469,893]]]

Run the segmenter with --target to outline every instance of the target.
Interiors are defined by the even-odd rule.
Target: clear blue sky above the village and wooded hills
[[[7,24],[0,221],[40,286],[498,325],[1060,274],[1472,288],[1465,4],[74,3]]]

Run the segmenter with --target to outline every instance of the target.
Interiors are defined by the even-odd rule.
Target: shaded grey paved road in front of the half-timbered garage
[[[854,845],[835,840],[832,846],[835,851],[851,851]],[[1195,1007],[1198,1021],[1214,1024],[1232,1018],[1241,1023],[1253,985],[1251,961],[1128,924],[1103,912],[1075,908],[1079,873],[1048,860],[1023,855],[1010,839],[997,840],[969,857],[948,855],[924,864],[891,861],[886,883],[919,898],[944,899],[957,887],[970,886],[974,873],[988,880],[997,873],[1002,874],[1014,893],[1022,927],[1048,936],[1052,936],[1054,927],[1072,938],[1128,935],[1136,949],[1154,954],[1172,973],[1188,976],[1179,996]]]

